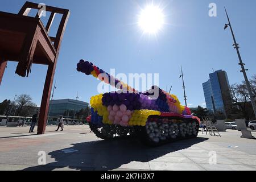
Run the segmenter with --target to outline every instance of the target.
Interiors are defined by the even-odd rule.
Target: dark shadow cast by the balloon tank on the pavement
[[[160,147],[147,147],[137,140],[97,140],[72,144],[73,147],[63,148],[49,152],[48,155],[55,159],[55,162],[44,166],[28,167],[25,171],[51,171],[68,167],[77,170],[112,170],[131,162],[143,162],[129,164],[125,168],[143,169],[141,165],[150,162],[160,156],[171,152],[179,151],[193,146],[207,138],[197,137],[194,139],[181,140],[168,143]],[[148,164],[146,164],[148,165]],[[132,166],[132,167],[131,167]]]

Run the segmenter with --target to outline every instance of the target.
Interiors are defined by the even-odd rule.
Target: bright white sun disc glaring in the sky
[[[138,25],[144,33],[156,34],[164,24],[163,10],[158,6],[148,5],[139,14]]]

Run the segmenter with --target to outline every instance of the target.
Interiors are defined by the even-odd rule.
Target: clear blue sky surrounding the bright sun
[[[2,1],[0,11],[18,13],[25,1]],[[155,38],[142,36],[136,24],[140,7],[148,1],[96,0],[96,1],[34,1],[71,10],[65,31],[55,80],[54,99],[74,98],[89,101],[97,94],[98,81],[76,71],[80,59],[92,61],[106,72],[115,68],[119,73],[160,73],[160,87],[172,85],[172,93],[183,101],[182,82],[179,79],[183,65],[188,103],[202,105],[202,83],[207,81],[212,69],[228,73],[230,84],[241,82],[238,58],[233,49],[224,6],[232,20],[237,42],[248,76],[256,73],[256,1],[234,0],[169,0],[154,1],[165,6],[165,22]],[[208,5],[217,4],[217,17],[210,18]],[[8,63],[0,86],[0,101],[13,100],[15,94],[30,94],[40,105],[47,67],[32,65],[28,78],[15,75],[16,64]]]

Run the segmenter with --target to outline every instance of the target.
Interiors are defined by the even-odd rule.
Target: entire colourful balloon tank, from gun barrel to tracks
[[[158,146],[197,137],[200,119],[191,115],[189,108],[182,106],[175,95],[158,86],[138,92],[89,61],[80,60],[77,71],[119,89],[98,94],[90,100],[92,115],[86,120],[98,138],[136,137]]]

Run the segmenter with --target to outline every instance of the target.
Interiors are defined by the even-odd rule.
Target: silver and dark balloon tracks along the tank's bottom
[[[148,146],[159,146],[176,140],[196,138],[199,133],[199,122],[196,119],[179,117],[151,116],[144,127],[103,125],[99,128],[92,123],[89,123],[89,126],[98,138],[109,140],[136,137]]]

